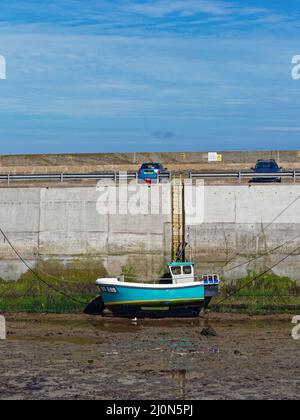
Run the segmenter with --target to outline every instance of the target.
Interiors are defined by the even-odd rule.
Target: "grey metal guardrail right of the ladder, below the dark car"
[[[223,179],[237,179],[239,182],[242,179],[266,179],[266,181],[273,178],[290,178],[294,182],[300,177],[300,171],[285,171],[285,172],[274,172],[274,173],[257,173],[253,171],[238,171],[238,172],[190,172],[190,179],[199,178],[223,178]]]

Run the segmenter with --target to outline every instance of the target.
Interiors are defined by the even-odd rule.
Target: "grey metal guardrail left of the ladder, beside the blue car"
[[[134,180],[138,179],[137,172],[103,172],[103,173],[91,173],[91,174],[82,174],[82,173],[73,173],[73,174],[2,174],[0,175],[0,182],[4,181],[7,182],[8,185],[11,182],[15,181],[54,181],[54,182],[67,182],[67,181],[101,181],[101,180],[111,180],[111,181],[119,181],[119,180]],[[164,173],[159,175],[159,180],[162,179],[171,179],[171,174]]]

